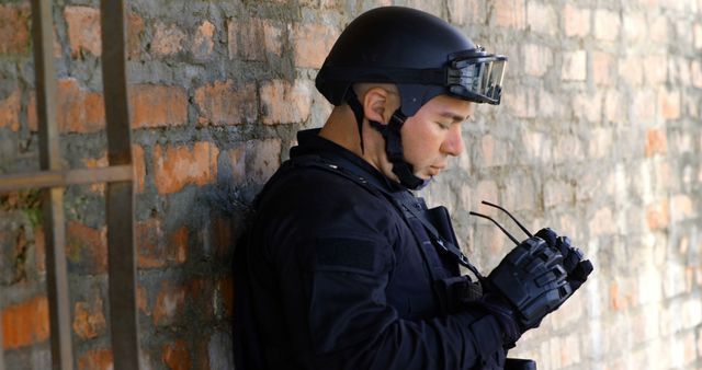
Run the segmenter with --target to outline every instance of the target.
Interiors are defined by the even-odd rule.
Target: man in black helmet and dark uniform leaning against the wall
[[[349,24],[316,80],[333,111],[298,134],[237,246],[237,369],[502,369],[585,281],[548,229],[482,276],[445,208],[410,192],[461,153],[474,104],[499,104],[506,60],[412,9]]]

